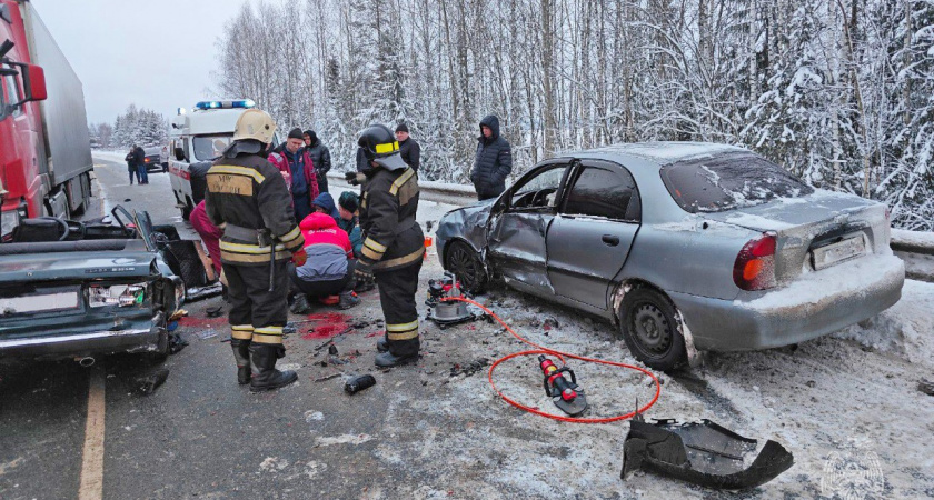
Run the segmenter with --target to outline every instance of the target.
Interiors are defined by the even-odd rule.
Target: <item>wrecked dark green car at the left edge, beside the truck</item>
[[[183,281],[147,212],[88,222],[26,219],[0,243],[0,359],[113,353],[165,359]]]

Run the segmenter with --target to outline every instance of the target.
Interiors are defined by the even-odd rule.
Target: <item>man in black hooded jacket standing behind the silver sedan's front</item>
[[[470,180],[477,190],[477,199],[487,200],[506,190],[506,177],[513,172],[513,149],[509,141],[499,136],[499,119],[495,114],[480,120],[480,137],[477,140],[477,159]]]

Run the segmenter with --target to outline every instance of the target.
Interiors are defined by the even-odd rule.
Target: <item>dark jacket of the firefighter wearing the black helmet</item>
[[[425,253],[425,237],[415,221],[418,177],[410,168],[367,171],[360,200],[364,247],[360,261],[374,271],[411,266]]]

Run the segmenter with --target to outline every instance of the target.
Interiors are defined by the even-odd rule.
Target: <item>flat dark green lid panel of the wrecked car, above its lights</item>
[[[147,251],[26,253],[4,256],[0,283],[148,277],[156,254]]]

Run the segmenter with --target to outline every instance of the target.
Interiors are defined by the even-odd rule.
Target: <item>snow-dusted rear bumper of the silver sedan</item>
[[[743,351],[804,342],[872,318],[901,299],[904,281],[901,259],[871,256],[805,274],[751,301],[669,296],[697,349]]]

